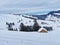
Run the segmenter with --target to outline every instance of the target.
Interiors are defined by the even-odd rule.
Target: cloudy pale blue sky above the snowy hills
[[[44,14],[60,9],[60,0],[0,0],[0,13]]]

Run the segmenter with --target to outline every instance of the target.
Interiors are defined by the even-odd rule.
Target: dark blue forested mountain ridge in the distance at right
[[[38,19],[43,19],[45,20],[45,18],[47,18],[48,15],[51,15],[51,16],[55,16],[57,18],[60,18],[60,10],[57,10],[57,11],[50,11],[46,14],[42,14],[42,15],[32,15],[33,17],[37,17]]]

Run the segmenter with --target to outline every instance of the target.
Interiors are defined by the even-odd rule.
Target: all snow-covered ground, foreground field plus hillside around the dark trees
[[[29,16],[27,15],[27,17]],[[52,19],[53,21],[51,21]],[[21,32],[19,31],[20,23],[23,22],[26,26],[32,26],[34,24],[33,19],[22,15],[0,14],[0,45],[60,45],[60,23],[57,19],[50,15],[47,16],[46,20],[37,19],[41,27],[51,26],[53,28],[48,33]],[[19,22],[19,20],[22,21]],[[17,28],[18,31],[9,31],[6,22],[14,22],[13,28]],[[41,24],[41,22],[44,22],[44,24]]]

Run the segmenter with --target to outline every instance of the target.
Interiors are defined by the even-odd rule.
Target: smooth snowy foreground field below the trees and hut
[[[60,45],[60,30],[48,33],[0,31],[0,45]]]

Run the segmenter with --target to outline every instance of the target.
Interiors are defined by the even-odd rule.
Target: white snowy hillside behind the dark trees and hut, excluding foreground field
[[[48,20],[49,18],[49,20]],[[13,14],[0,14],[0,29],[1,30],[5,30],[7,29],[7,25],[6,25],[6,22],[14,22],[15,25],[13,26],[13,28],[18,28],[19,29],[19,25],[21,23],[24,23],[24,25],[28,25],[28,26],[33,26],[34,24],[34,19],[37,19],[37,22],[38,24],[43,27],[43,26],[51,26],[53,27],[53,29],[55,29],[57,26],[60,26],[60,23],[59,21],[57,22],[56,21],[56,18],[55,21],[51,21],[50,20],[50,17],[47,17],[46,20],[40,20],[38,18],[35,18],[33,16],[26,16],[26,15],[13,15]],[[51,19],[53,19],[53,17],[51,17]],[[42,24],[44,23],[44,24]],[[54,26],[56,25],[56,26]]]

